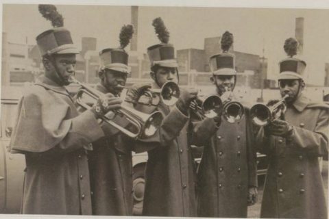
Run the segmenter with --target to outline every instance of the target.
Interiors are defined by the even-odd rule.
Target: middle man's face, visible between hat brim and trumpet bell
[[[159,66],[156,73],[151,73],[152,79],[158,81],[158,86],[162,87],[164,83],[173,81],[178,83],[178,73],[176,68],[167,68]]]

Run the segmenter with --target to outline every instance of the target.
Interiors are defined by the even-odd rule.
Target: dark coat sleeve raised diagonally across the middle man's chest
[[[189,120],[189,115],[186,116],[176,106],[162,120],[162,123],[153,136],[138,139],[136,141],[135,151],[141,153],[149,151],[158,146],[167,146],[172,140],[178,137],[180,131]]]

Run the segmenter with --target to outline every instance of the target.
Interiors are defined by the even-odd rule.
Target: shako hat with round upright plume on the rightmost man
[[[303,79],[306,62],[294,58],[297,54],[298,42],[294,38],[288,38],[284,42],[284,51],[288,57],[279,62],[280,75],[278,79]]]

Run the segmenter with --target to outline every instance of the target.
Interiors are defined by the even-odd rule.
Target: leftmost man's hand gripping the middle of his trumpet
[[[92,111],[95,113],[96,118],[101,118],[101,116],[104,116],[109,111],[120,110],[121,103],[122,100],[119,97],[107,93],[99,97],[97,102],[93,105]]]

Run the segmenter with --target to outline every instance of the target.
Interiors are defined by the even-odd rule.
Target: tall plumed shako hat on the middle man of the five
[[[178,63],[175,60],[175,48],[172,44],[168,43],[169,31],[167,30],[167,27],[164,25],[160,17],[154,19],[152,25],[154,26],[161,43],[147,48],[151,67],[158,65],[168,68],[178,68]]]

